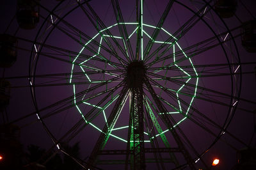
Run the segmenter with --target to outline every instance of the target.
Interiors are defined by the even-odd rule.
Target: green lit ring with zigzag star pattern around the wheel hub
[[[135,29],[130,33],[129,38],[131,38],[132,36],[136,36],[136,31],[138,30],[138,23],[136,23],[136,22],[125,22],[125,23],[119,23],[119,24],[125,24],[125,25],[130,25],[130,26],[132,25],[132,26],[135,26]],[[144,24],[144,23],[143,23],[142,25],[143,25],[144,28],[145,28],[145,29],[142,30],[142,31],[143,31],[143,34],[145,34],[148,38],[152,39],[151,36],[148,35],[147,31],[145,31],[145,30],[146,30],[147,28],[156,29],[156,27],[155,27],[155,26],[150,26],[150,25]],[[118,26],[117,23],[116,23],[116,24],[113,24],[112,26],[107,27],[106,29],[112,29],[112,28],[114,28],[114,27],[116,27],[116,26]],[[102,34],[102,32],[103,32],[103,31],[106,31],[106,29],[102,29],[101,31],[99,31],[99,33],[97,33],[97,35],[93,36],[92,40],[95,40],[97,37],[100,37],[100,42],[99,42],[99,44],[101,45],[101,44],[102,44],[102,36],[106,36],[106,37],[109,37],[109,36],[110,36],[110,35],[104,35],[104,34]],[[181,120],[177,121],[177,124],[173,126],[173,127],[176,127],[176,126],[179,125],[182,121],[186,120],[186,115],[188,115],[188,112],[189,112],[189,109],[190,109],[190,107],[191,107],[191,104],[193,103],[193,100],[194,100],[194,98],[196,97],[196,91],[197,91],[198,77],[199,77],[199,76],[198,76],[198,73],[196,72],[196,69],[195,69],[195,67],[194,67],[194,65],[193,65],[193,63],[192,63],[192,61],[191,61],[191,58],[188,58],[188,56],[185,54],[185,52],[184,52],[184,51],[182,50],[182,48],[180,47],[179,43],[177,43],[177,38],[175,38],[172,34],[168,33],[168,31],[166,31],[163,27],[158,28],[158,29],[161,29],[161,31],[164,31],[164,33],[166,33],[168,36],[172,36],[172,38],[175,40],[175,42],[174,42],[174,43],[173,43],[173,42],[162,42],[162,41],[156,41],[156,40],[154,40],[154,43],[160,43],[160,44],[161,44],[161,43],[162,43],[162,44],[163,44],[163,43],[169,43],[170,45],[172,45],[172,48],[173,48],[173,63],[174,63],[174,65],[175,65],[177,68],[179,68],[179,70],[180,70],[182,73],[184,73],[184,75],[186,75],[186,76],[183,76],[182,78],[180,77],[180,79],[184,79],[184,78],[187,79],[186,82],[184,82],[184,84],[182,84],[182,86],[180,86],[179,89],[170,89],[170,88],[168,89],[169,91],[175,92],[175,94],[176,94],[176,96],[177,96],[177,102],[178,102],[178,104],[179,104],[179,108],[173,107],[173,105],[170,104],[168,101],[163,101],[165,104],[170,105],[171,107],[173,107],[173,109],[175,109],[175,111],[168,112],[168,114],[179,114],[179,113],[181,114],[181,113],[182,113],[183,115],[185,115],[184,118],[182,118]],[[122,37],[120,37],[120,36],[115,36],[115,35],[112,35],[112,36],[113,36],[113,38],[122,39],[122,40],[124,41],[124,38],[122,38]],[[86,42],[86,43],[84,44],[84,47],[79,51],[79,54],[78,54],[78,55],[76,56],[76,58],[74,58],[74,60],[72,61],[72,69],[71,69],[70,80],[69,80],[70,84],[72,84],[72,80],[73,80],[74,66],[77,66],[77,64],[75,64],[75,62],[78,60],[78,58],[79,58],[80,54],[83,52],[84,48],[86,48],[86,45],[90,44],[90,43],[92,42],[92,40],[89,40],[88,42]],[[141,41],[143,41],[143,40],[141,39]],[[143,42],[142,42],[142,43],[143,43]],[[85,76],[86,79],[88,79],[88,81],[89,81],[90,83],[92,83],[92,84],[93,84],[93,83],[99,83],[99,82],[101,82],[101,81],[92,81],[91,78],[90,78],[90,75],[86,74],[86,71],[84,71],[84,68],[86,68],[86,65],[84,65],[84,64],[86,64],[86,62],[90,61],[90,59],[95,58],[95,56],[100,56],[100,55],[99,55],[100,50],[101,50],[100,45],[99,45],[99,47],[98,47],[98,49],[97,49],[97,54],[95,54],[95,55],[93,55],[91,58],[85,59],[84,61],[82,61],[81,63],[79,63],[79,67],[80,67],[81,70],[84,72],[84,76]],[[124,43],[124,45],[125,45],[125,43]],[[124,48],[127,49],[126,47],[124,47]],[[175,61],[176,61],[176,56],[175,56],[175,50],[176,50],[176,49],[175,49],[175,48],[177,48],[178,50],[180,50],[180,51],[182,52],[182,54],[184,55],[184,57],[185,57],[186,59],[188,59],[189,63],[191,64],[191,67],[193,68],[193,74],[196,75],[196,76],[195,76],[195,75],[193,76],[193,79],[195,78],[195,89],[193,89],[193,90],[194,90],[194,91],[193,91],[193,95],[188,95],[188,94],[186,94],[187,96],[191,97],[191,100],[190,100],[190,102],[189,102],[188,109],[186,109],[186,111],[185,111],[184,109],[182,110],[182,105],[180,104],[179,95],[184,95],[184,94],[183,94],[182,92],[180,92],[180,91],[186,86],[186,83],[188,83],[189,81],[191,81],[192,77],[191,77],[191,75],[190,75],[188,72],[186,72],[184,69],[182,69],[182,68],[178,65],[179,62],[177,62],[177,63],[175,62]],[[126,50],[126,52],[127,52],[127,50]],[[141,52],[141,55],[142,55],[142,52]],[[127,56],[129,56],[128,53],[127,53]],[[104,59],[104,58],[102,58],[102,59]],[[79,62],[80,62],[80,61],[81,61],[81,59],[79,59]],[[112,66],[113,66],[113,65],[112,65]],[[169,66],[173,66],[173,65],[169,65]],[[98,68],[94,68],[93,66],[88,66],[87,68],[90,68],[90,70],[93,70],[93,71],[95,71],[95,72],[99,71]],[[115,66],[113,66],[113,68],[115,68]],[[156,69],[156,70],[154,71],[154,73],[157,73],[157,72],[161,72],[161,69],[159,69],[159,70]],[[112,75],[113,77],[115,77],[115,73],[108,73],[108,75]],[[172,78],[174,78],[174,79],[179,79],[179,77],[170,77],[170,78],[171,78],[171,79],[172,79]],[[160,79],[160,78],[159,78],[159,79]],[[102,82],[103,82],[103,81],[102,81]],[[90,86],[89,86],[88,88],[90,88]],[[73,84],[73,91],[74,91],[74,105],[76,105],[77,111],[79,112],[79,114],[81,114],[81,116],[82,116],[82,118],[84,119],[85,123],[88,123],[88,121],[84,118],[83,112],[82,112],[81,109],[79,108],[79,105],[81,105],[81,104],[77,104],[77,101],[76,101],[76,85],[75,85],[75,84]],[[83,104],[84,104],[84,105],[90,105],[90,106],[92,106],[92,107],[97,107],[97,109],[100,109],[100,110],[102,111],[103,116],[104,116],[104,122],[107,123],[107,122],[108,122],[108,121],[107,121],[108,118],[106,117],[105,110],[109,107],[109,105],[113,104],[113,102],[115,102],[115,100],[116,100],[118,97],[119,97],[119,95],[115,95],[115,97],[113,97],[113,100],[109,101],[108,104],[104,106],[104,108],[99,107],[99,106],[94,105],[94,104],[90,104],[89,102],[86,102],[85,100],[83,101]],[[150,102],[150,101],[148,100],[148,98],[146,98],[146,100],[147,100],[147,103]],[[150,106],[147,104],[147,107],[150,107]],[[150,108],[148,108],[148,109],[150,109]],[[150,109],[150,110],[151,110],[151,109]],[[163,113],[158,113],[158,114],[163,114]],[[102,132],[102,130],[101,130],[99,127],[97,127],[96,125],[94,125],[93,123],[90,123],[90,122],[89,122],[88,124],[91,125],[93,128],[99,130],[99,132]],[[128,125],[127,125],[127,126],[124,126],[124,127],[116,127],[116,128],[113,128],[111,132],[113,132],[113,131],[115,131],[115,130],[121,130],[121,129],[124,129],[124,128],[128,128],[128,127],[129,127]],[[166,132],[168,132],[168,131],[169,131],[168,129],[166,129],[166,130],[161,130],[161,133],[157,134],[155,137],[160,136],[160,135],[162,135],[162,134],[164,134],[164,133],[166,133]],[[144,132],[144,134],[148,135],[147,132]],[[127,140],[123,139],[122,137],[118,137],[117,135],[113,135],[113,134],[110,134],[110,136],[111,136],[111,137],[115,137],[116,139],[119,139],[120,141],[123,141],[123,142],[127,143]],[[131,142],[132,142],[132,141],[131,141]],[[150,142],[150,141],[144,141],[144,142]]]

